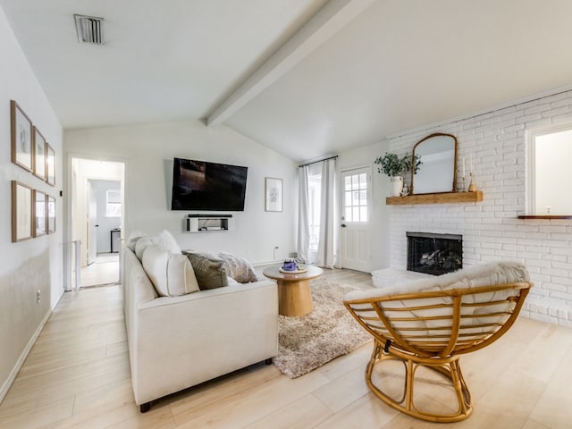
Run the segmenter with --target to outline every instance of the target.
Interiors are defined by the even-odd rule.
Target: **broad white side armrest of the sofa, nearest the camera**
[[[273,357],[278,291],[263,281],[138,304],[132,350],[138,404]]]

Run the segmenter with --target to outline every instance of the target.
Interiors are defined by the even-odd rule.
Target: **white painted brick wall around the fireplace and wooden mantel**
[[[484,193],[480,203],[391,206],[391,268],[406,268],[407,231],[461,234],[465,265],[527,265],[534,288],[523,315],[572,327],[572,221],[517,219],[526,210],[526,130],[563,122],[572,122],[572,91],[391,139],[391,152],[403,155],[432,132],[455,135],[458,164],[465,157],[468,170],[472,158]]]

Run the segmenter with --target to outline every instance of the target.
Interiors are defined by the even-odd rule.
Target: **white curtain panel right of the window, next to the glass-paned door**
[[[322,195],[320,205],[320,237],[315,264],[333,268],[337,262],[338,210],[336,202],[336,159],[322,161]]]

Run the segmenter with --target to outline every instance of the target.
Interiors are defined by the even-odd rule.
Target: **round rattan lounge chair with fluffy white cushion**
[[[498,340],[517,319],[532,287],[524,265],[475,265],[434,279],[395,287],[350,292],[344,305],[374,336],[374,351],[366,366],[366,383],[392,408],[431,422],[456,422],[473,412],[473,402],[459,366],[462,354]],[[383,391],[383,364],[405,365],[402,394]],[[458,406],[442,410],[416,408],[416,369],[431,368],[444,375]],[[375,372],[379,376],[372,375]],[[381,382],[380,382],[381,380]],[[447,404],[450,405],[450,404]]]

